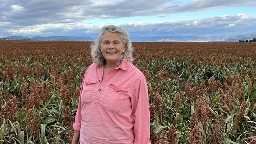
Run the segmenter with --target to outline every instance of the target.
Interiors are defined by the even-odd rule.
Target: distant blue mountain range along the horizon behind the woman
[[[250,40],[256,37],[252,35],[237,35],[231,37],[202,37],[202,36],[149,36],[149,37],[131,37],[132,42],[238,42],[239,40]],[[3,38],[2,38],[3,39]],[[22,37],[9,36],[4,39],[24,39],[24,40],[42,40],[42,41],[95,41],[96,37]]]

